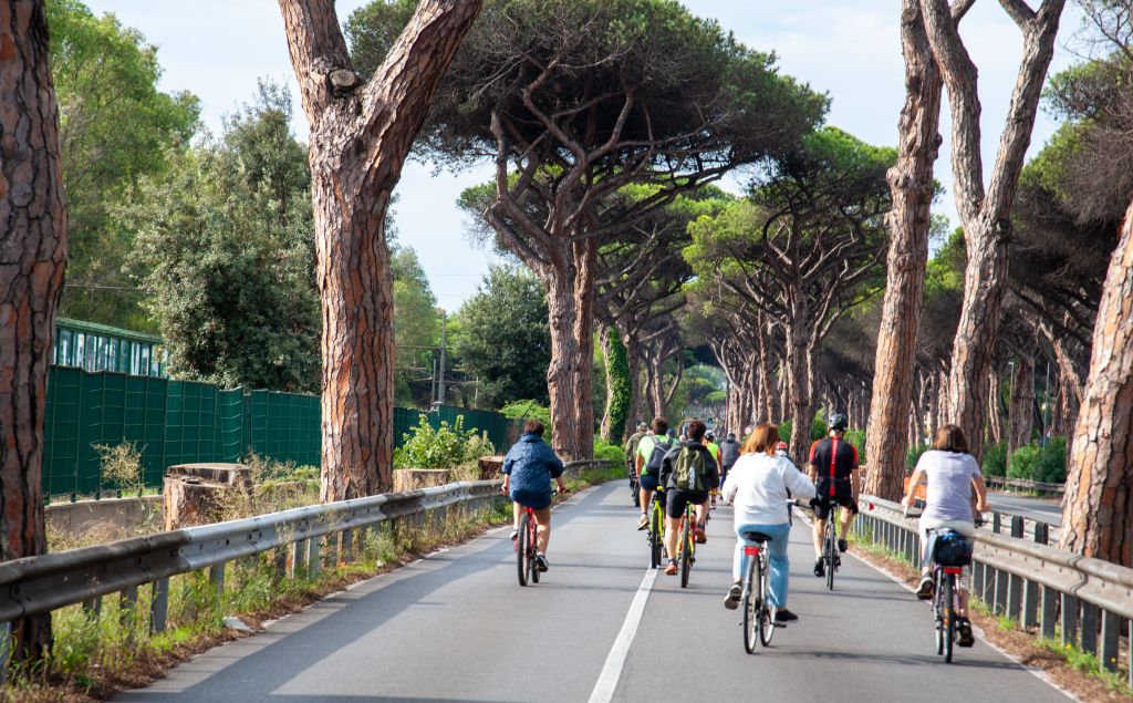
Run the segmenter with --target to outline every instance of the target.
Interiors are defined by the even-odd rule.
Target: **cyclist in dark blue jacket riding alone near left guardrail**
[[[547,570],[547,542],[551,540],[551,480],[559,484],[559,492],[566,492],[563,483],[563,463],[543,441],[545,427],[538,420],[523,424],[519,438],[503,459],[503,493],[511,497],[514,528],[511,539],[519,537],[519,519],[525,508],[535,511],[536,542],[535,568]]]

